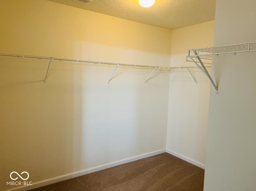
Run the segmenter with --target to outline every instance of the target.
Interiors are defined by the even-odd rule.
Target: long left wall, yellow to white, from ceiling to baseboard
[[[46,0],[3,0],[0,52],[170,64],[171,31]],[[165,149],[169,73],[0,58],[0,190]]]

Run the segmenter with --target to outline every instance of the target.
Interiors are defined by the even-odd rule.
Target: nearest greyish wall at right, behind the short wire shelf
[[[214,45],[256,41],[255,0],[217,0]],[[256,190],[255,52],[216,56],[204,191]]]

